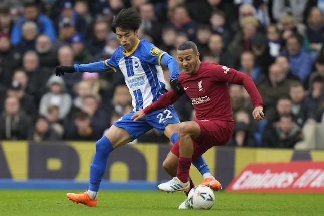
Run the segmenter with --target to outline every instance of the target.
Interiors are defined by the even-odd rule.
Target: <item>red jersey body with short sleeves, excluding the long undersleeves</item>
[[[178,80],[192,101],[197,119],[233,121],[228,82],[234,74],[233,69],[206,62],[201,62],[193,76],[180,74]]]

